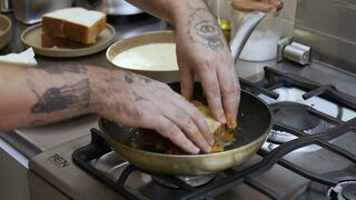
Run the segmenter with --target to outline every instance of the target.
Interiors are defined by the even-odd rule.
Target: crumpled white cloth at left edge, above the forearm
[[[0,56],[0,62],[17,63],[22,66],[36,66],[34,52],[29,48],[20,53],[10,53]]]

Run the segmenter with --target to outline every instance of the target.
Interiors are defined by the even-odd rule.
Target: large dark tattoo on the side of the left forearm
[[[36,91],[34,84],[30,80],[27,80],[27,84],[38,98],[38,101],[31,108],[31,113],[49,113],[67,108],[85,108],[89,106],[89,79],[83,79],[71,86],[49,88],[41,96]]]

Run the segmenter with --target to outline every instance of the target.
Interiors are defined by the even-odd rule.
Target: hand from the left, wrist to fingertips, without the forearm
[[[210,152],[214,138],[202,116],[167,84],[121,70],[95,76],[99,81],[96,93],[101,97],[99,114],[154,129],[189,153]]]

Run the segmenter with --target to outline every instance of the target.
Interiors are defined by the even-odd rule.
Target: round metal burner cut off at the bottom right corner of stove
[[[356,199],[356,180],[339,182],[328,190],[327,196],[337,200]]]

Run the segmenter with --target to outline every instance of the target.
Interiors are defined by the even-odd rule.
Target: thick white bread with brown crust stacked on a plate
[[[68,8],[42,16],[42,32],[49,37],[66,38],[81,43],[95,43],[105,29],[103,12],[83,8]]]

